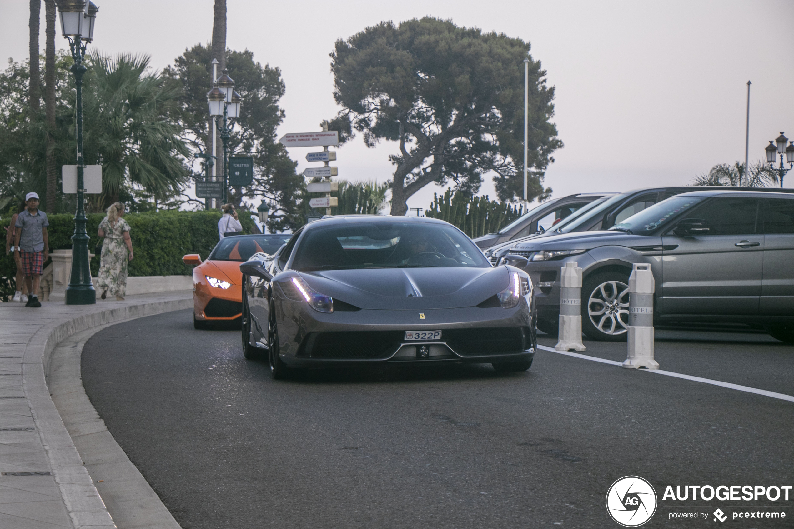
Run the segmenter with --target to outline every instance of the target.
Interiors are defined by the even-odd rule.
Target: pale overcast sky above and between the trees
[[[187,47],[209,43],[212,0],[94,0],[94,46],[138,52],[162,68]],[[794,2],[254,2],[227,0],[227,45],[249,48],[281,68],[287,94],[285,132],[318,130],[333,117],[333,43],[380,21],[430,15],[457,25],[529,40],[531,54],[555,86],[559,136],[545,186],[553,196],[683,185],[716,163],[744,161],[746,82],[750,94],[750,160],[781,131],[794,138]],[[28,2],[2,2],[0,57],[28,54]],[[42,7],[40,44],[44,48]],[[57,29],[56,45],[66,40]],[[5,65],[3,65],[5,66]],[[208,87],[209,90],[209,87]],[[299,171],[310,149],[291,149]],[[393,143],[374,149],[360,137],[339,149],[340,178],[384,181]],[[792,173],[794,174],[794,173]],[[794,184],[794,175],[784,181]],[[426,207],[428,186],[408,201]],[[482,194],[495,196],[492,182]]]

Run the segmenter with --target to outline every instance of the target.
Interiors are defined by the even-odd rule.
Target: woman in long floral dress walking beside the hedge
[[[110,290],[111,296],[123,301],[127,290],[127,263],[133,260],[133,241],[129,239],[129,224],[121,217],[124,217],[124,205],[115,202],[107,209],[107,217],[99,223],[98,235],[105,237],[97,280],[102,299]]]

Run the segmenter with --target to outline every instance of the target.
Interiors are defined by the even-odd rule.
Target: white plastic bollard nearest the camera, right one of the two
[[[634,263],[629,277],[628,357],[623,367],[659,369],[653,359],[653,272],[649,264]]]

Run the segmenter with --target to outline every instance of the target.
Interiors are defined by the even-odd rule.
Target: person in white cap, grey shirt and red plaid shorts
[[[25,196],[25,211],[17,216],[14,224],[13,258],[21,259],[22,274],[25,275],[25,286],[30,293],[25,307],[40,307],[37,293],[41,281],[41,265],[49,256],[49,240],[47,237],[47,213],[39,211],[39,195],[29,193]]]

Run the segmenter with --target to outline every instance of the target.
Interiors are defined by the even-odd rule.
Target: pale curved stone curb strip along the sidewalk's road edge
[[[56,345],[76,332],[110,324],[152,316],[162,312],[189,309],[192,297],[126,305],[114,309],[80,314],[70,320],[55,320],[40,328],[29,339],[22,358],[22,385],[37,431],[47,452],[61,496],[75,529],[115,529],[102,497],[94,486],[75,444],[61,420],[49,394],[44,376]]]

